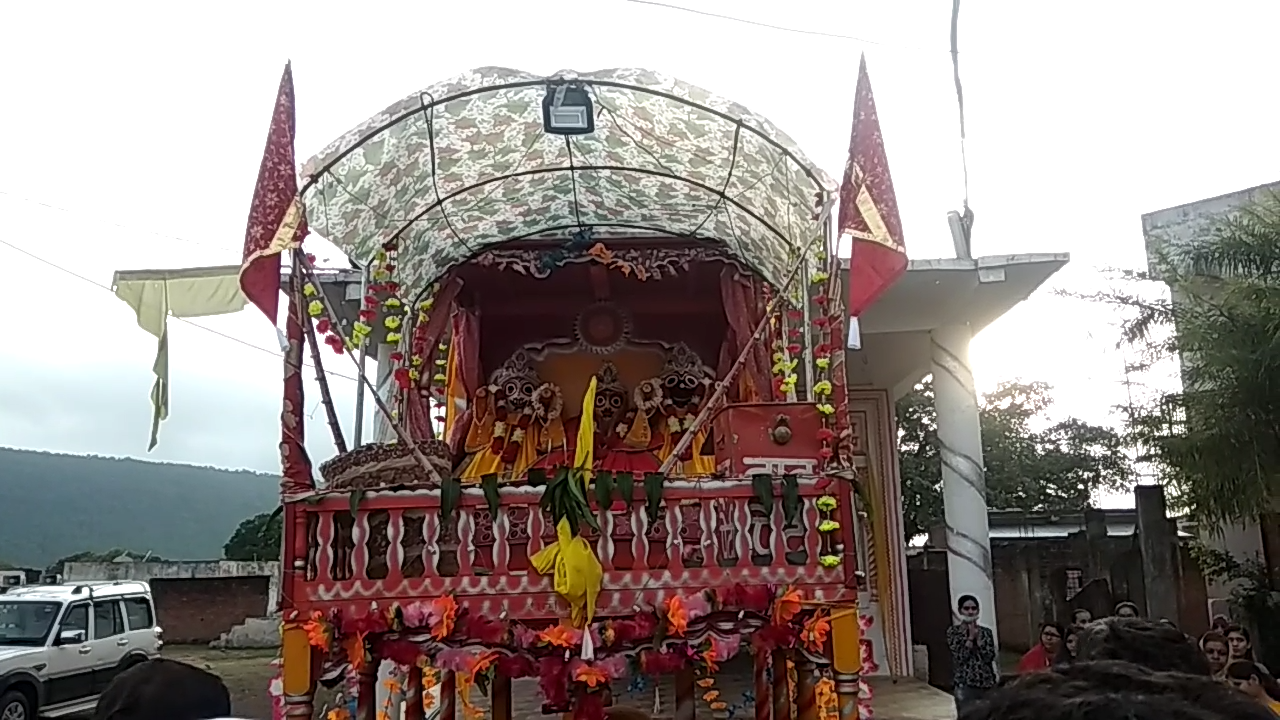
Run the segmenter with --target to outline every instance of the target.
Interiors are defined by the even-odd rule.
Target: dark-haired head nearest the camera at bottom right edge
[[[1091,626],[1092,628],[1092,626]],[[1075,662],[1021,675],[959,720],[1275,720],[1252,698],[1206,676],[1121,661]]]

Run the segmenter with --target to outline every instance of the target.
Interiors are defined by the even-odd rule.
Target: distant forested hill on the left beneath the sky
[[[0,448],[0,562],[115,547],[214,560],[241,520],[278,503],[264,473]]]

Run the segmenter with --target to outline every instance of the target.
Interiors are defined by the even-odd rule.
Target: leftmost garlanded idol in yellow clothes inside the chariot
[[[566,447],[559,387],[538,377],[529,354],[512,355],[475,392],[475,420],[467,432],[467,454],[458,478],[479,482],[495,474],[511,480],[556,450]]]

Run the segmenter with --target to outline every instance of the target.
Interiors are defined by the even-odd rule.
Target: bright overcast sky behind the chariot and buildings
[[[951,255],[945,214],[963,183],[948,0],[672,1],[867,42],[625,0],[6,5],[0,238],[102,286],[115,269],[238,263],[287,59],[300,159],[468,68],[646,67],[768,117],[838,177],[865,51],[909,252]],[[1089,290],[1100,268],[1142,264],[1142,213],[1277,179],[1280,4],[1208,8],[965,5],[975,254],[1069,251],[1053,287]],[[154,338],[106,290],[4,246],[0,266],[0,445],[146,456]],[[275,332],[256,311],[198,323],[247,345],[172,323],[172,411],[151,456],[278,471]],[[1047,380],[1057,414],[1107,421],[1124,400],[1112,345],[1103,313],[1042,291],[973,356],[982,387]],[[349,427],[355,384],[333,386]],[[323,411],[308,433],[312,456],[329,456]]]

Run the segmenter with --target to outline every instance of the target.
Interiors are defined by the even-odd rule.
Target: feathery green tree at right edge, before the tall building
[[[1139,370],[1180,365],[1181,388],[1132,409],[1134,443],[1202,527],[1257,516],[1280,495],[1280,199],[1156,245],[1156,273],[1088,296],[1121,310]]]

